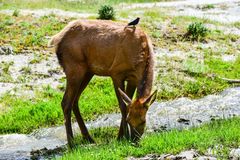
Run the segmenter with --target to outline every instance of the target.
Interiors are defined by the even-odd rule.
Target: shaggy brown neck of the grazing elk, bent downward
[[[143,76],[137,87],[137,98],[148,97],[153,83],[153,55],[150,52],[146,61]]]

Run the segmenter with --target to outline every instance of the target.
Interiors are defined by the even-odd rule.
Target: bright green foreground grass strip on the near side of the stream
[[[213,121],[189,130],[147,134],[142,138],[139,146],[134,146],[128,142],[117,142],[115,137],[112,136],[115,135],[116,129],[98,129],[93,132],[95,136],[100,137],[97,145],[78,146],[60,159],[71,160],[77,157],[77,159],[112,160],[124,159],[129,156],[141,157],[150,153],[177,154],[189,149],[196,149],[200,154],[204,154],[208,148],[215,148],[216,146],[223,146],[223,149],[215,150],[218,153],[217,158],[228,159],[230,149],[240,145],[239,123],[240,118],[238,117]]]

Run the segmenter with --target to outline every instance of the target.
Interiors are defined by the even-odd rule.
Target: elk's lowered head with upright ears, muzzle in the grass
[[[130,138],[133,141],[138,141],[146,126],[146,114],[150,105],[157,97],[157,91],[154,91],[150,96],[132,101],[121,89],[119,89],[123,101],[127,105],[127,123],[130,129]]]

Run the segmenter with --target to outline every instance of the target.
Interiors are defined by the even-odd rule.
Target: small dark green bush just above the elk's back
[[[115,19],[115,11],[112,6],[103,5],[98,10],[99,19],[113,20]]]

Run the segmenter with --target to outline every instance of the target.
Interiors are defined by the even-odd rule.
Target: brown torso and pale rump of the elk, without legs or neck
[[[77,20],[52,39],[60,64],[72,60],[85,63],[97,75],[136,70],[149,53],[145,33],[111,21]],[[68,60],[67,60],[68,59]]]

